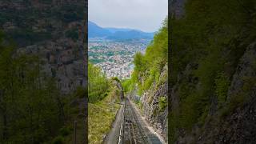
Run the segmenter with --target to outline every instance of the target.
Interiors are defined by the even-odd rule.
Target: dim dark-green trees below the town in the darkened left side
[[[14,42],[0,34],[0,143],[72,140],[80,109],[72,102],[85,90],[64,96],[56,81],[44,73],[37,54],[18,53]]]

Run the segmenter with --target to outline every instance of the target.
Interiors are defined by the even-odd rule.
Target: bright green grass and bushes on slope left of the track
[[[106,78],[98,66],[89,63],[88,138],[90,143],[102,143],[110,131],[119,109],[118,78]],[[102,121],[103,120],[103,121]]]

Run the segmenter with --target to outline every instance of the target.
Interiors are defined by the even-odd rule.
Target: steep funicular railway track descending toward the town
[[[146,130],[142,121],[136,115],[129,100],[125,99],[120,129],[119,144],[158,144],[158,138]]]

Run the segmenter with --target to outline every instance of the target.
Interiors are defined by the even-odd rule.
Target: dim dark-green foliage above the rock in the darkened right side
[[[179,106],[170,111],[170,142],[180,130],[202,126],[213,111],[238,106],[227,91],[238,60],[256,38],[253,0],[188,0],[183,18],[171,18],[171,87],[177,86]],[[245,95],[242,94],[242,97]],[[228,110],[231,112],[232,110]]]

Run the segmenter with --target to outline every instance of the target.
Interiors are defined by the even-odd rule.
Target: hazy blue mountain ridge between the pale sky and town
[[[110,40],[153,39],[154,33],[126,28],[103,28],[94,22],[88,22],[89,38],[106,38]]]

